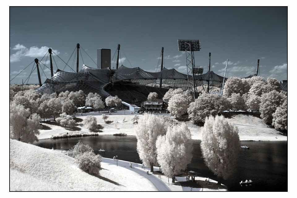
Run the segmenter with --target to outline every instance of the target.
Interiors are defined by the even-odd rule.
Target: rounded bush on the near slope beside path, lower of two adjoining
[[[101,169],[101,158],[101,155],[96,155],[91,151],[75,156],[78,167],[89,174],[99,174]]]

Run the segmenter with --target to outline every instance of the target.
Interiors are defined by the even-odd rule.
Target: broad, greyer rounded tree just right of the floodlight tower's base
[[[189,105],[188,114],[191,120],[204,122],[206,117],[216,116],[228,109],[226,97],[204,92]]]

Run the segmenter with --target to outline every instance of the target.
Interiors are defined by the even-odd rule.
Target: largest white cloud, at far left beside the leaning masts
[[[49,47],[42,46],[38,48],[37,46],[32,46],[29,49],[26,48],[24,45],[17,44],[15,45],[12,50],[18,50],[15,54],[11,54],[9,59],[10,62],[18,62],[24,57],[44,57],[44,55],[49,51]],[[55,54],[60,54],[57,50],[52,49]],[[53,55],[55,55],[53,53]]]

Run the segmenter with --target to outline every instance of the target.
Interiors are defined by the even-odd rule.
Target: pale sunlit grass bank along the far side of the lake
[[[112,115],[108,115],[107,121],[102,119],[103,113],[86,113],[83,116],[75,116],[76,126],[72,128],[62,127],[52,119],[50,122],[41,122],[42,129],[40,135],[37,136],[38,140],[55,138],[69,138],[80,136],[102,136],[102,135],[114,135],[116,133],[125,133],[127,136],[136,136],[135,126],[136,124],[131,119],[137,115],[141,117],[141,114],[123,114],[122,111],[113,112]],[[83,120],[86,115],[92,115],[97,118],[97,125],[100,127],[97,131],[89,131],[83,125]],[[170,123],[185,123],[192,134],[192,140],[202,139],[202,127],[192,120],[185,118],[175,119],[169,114],[161,114],[168,116]],[[158,114],[157,116],[160,116]],[[278,130],[266,125],[257,114],[232,114],[226,118],[228,122],[233,123],[238,127],[238,134],[240,141],[287,141],[286,134],[281,134]],[[67,134],[68,133],[68,134]]]

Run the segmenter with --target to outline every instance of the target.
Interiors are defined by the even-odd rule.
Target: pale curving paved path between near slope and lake
[[[110,158],[103,158],[101,159],[102,162],[104,163],[108,163],[108,164],[112,164],[112,165],[117,165],[117,161],[114,161],[113,159]],[[122,160],[118,160],[118,166],[130,169],[136,173],[141,174],[142,176],[146,177],[147,179],[149,179],[154,185],[155,187],[159,190],[159,191],[171,191],[167,185],[165,183],[163,183],[159,178],[155,177],[154,175],[151,174],[151,172],[149,172],[149,174],[146,173],[146,171],[138,169],[138,168],[133,168],[133,165],[135,165],[135,163],[132,163],[132,168],[129,167],[129,163],[128,161],[122,161]],[[141,166],[141,165],[140,165]]]

